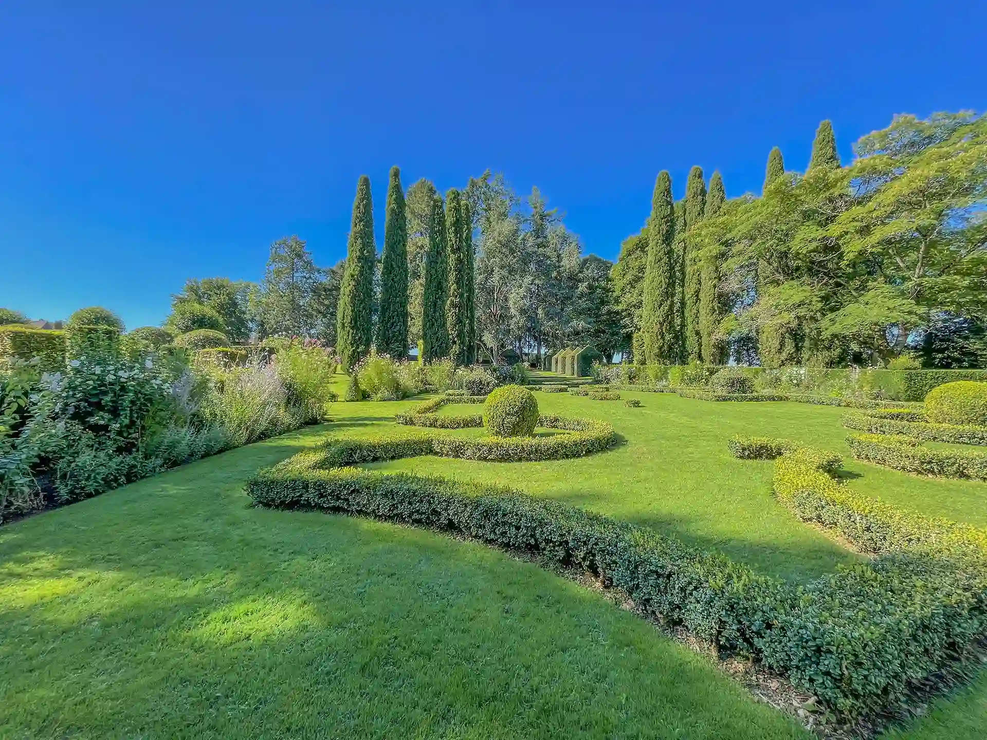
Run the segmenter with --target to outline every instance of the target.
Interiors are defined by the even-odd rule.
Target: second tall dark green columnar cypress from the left
[[[408,216],[401,170],[391,168],[380,270],[377,351],[398,360],[408,357]]]

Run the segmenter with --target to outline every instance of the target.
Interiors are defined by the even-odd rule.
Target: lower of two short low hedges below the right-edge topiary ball
[[[932,450],[903,435],[851,434],[850,451],[857,460],[905,473],[987,481],[987,452]]]

